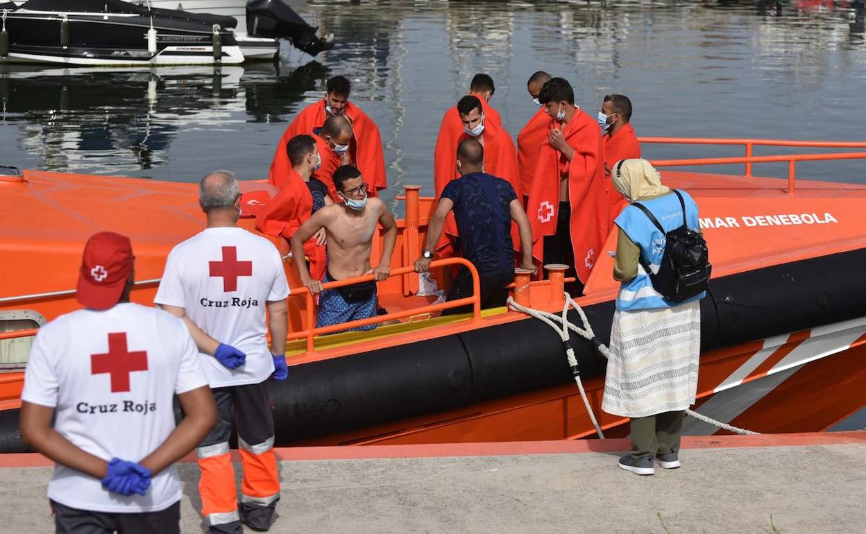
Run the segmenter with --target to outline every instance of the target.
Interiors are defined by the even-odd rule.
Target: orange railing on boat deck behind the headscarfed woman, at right
[[[745,157],[734,158],[694,158],[660,159],[651,163],[656,167],[675,167],[683,165],[721,165],[746,164],[746,176],[752,176],[752,164],[788,162],[788,192],[794,191],[798,161],[824,161],[832,159],[862,159],[866,152],[840,152],[825,154],[789,154],[779,156],[753,156],[755,146],[792,146],[799,148],[866,148],[863,141],[798,141],[792,139],[732,139],[732,138],[637,138],[641,143],[666,145],[742,145],[746,147]]]

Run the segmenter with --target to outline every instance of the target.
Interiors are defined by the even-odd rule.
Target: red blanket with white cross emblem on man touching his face
[[[553,128],[553,120],[549,128]],[[568,197],[572,206],[570,223],[572,252],[578,278],[586,283],[592,267],[602,254],[608,234],[607,182],[604,176],[604,147],[598,121],[579,111],[563,128],[565,142],[574,150],[569,162],[550,143],[541,147],[527,215],[533,227],[533,256],[544,259],[544,236],[556,234],[559,214],[559,177],[568,176]]]

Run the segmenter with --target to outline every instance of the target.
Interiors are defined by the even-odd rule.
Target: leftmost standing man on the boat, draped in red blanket
[[[325,98],[307,106],[282,134],[271,162],[269,181],[281,186],[291,164],[286,156],[286,144],[290,138],[305,133],[319,135],[329,117],[339,116],[352,125],[352,140],[348,145],[336,145],[333,150],[341,157],[341,164],[352,164],[361,171],[369,195],[377,196],[379,190],[388,187],[385,176],[385,155],[382,151],[382,137],[378,126],[361,111],[359,106],[349,101],[352,85],[344,76],[333,76],[327,80]],[[343,157],[346,155],[345,157]],[[337,165],[339,166],[339,165]],[[334,168],[336,169],[336,167]],[[332,171],[333,174],[333,171]],[[320,177],[323,182],[332,182],[331,177]]]

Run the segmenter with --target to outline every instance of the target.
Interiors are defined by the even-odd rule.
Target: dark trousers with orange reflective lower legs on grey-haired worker
[[[241,505],[268,523],[280,499],[280,480],[274,456],[274,418],[264,383],[216,388],[218,422],[197,447],[202,478],[198,492],[202,515],[215,531],[240,531],[235,469],[229,454],[232,421],[236,421],[243,479]],[[264,517],[264,519],[262,519]]]

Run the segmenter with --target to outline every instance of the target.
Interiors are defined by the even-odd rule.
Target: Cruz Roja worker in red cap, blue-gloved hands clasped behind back
[[[75,293],[86,309],[42,326],[30,350],[21,434],[55,460],[58,532],[179,532],[174,462],[216,424],[184,323],[129,302],[133,262],[126,236],[93,235]],[[174,395],[184,409],[177,428]]]

